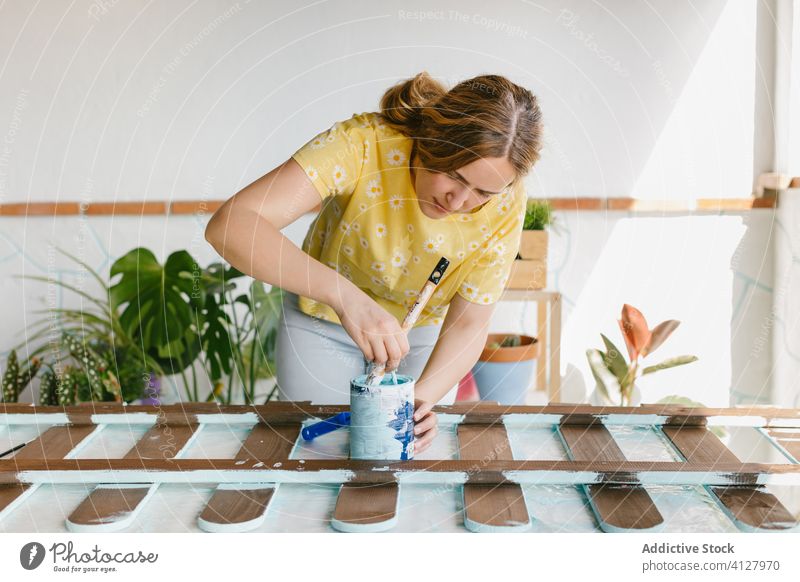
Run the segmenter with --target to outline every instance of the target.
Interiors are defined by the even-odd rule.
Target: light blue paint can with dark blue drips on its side
[[[414,378],[367,374],[350,380],[350,458],[407,461],[414,457]]]

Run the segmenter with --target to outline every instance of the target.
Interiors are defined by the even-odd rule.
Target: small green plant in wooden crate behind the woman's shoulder
[[[509,289],[543,289],[547,285],[547,230],[553,211],[547,200],[528,200],[517,259],[511,265]]]

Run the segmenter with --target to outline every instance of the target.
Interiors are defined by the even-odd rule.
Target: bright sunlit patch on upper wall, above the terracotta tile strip
[[[756,2],[729,2],[680,94],[672,94],[669,78],[660,75],[674,109],[634,185],[633,197],[751,195],[755,43]],[[657,64],[654,69],[659,74]]]

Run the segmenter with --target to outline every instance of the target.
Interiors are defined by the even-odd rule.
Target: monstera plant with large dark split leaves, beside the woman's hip
[[[118,275],[111,296],[124,329],[164,368],[182,375],[189,400],[201,398],[192,365],[200,358],[212,385],[206,401],[230,404],[239,382],[245,403],[253,402],[264,363],[274,361],[279,288],[267,292],[253,281],[237,295],[244,273],[222,263],[202,269],[186,251],[172,253],[162,266],[149,250],[133,249],[112,265],[112,278]]]

